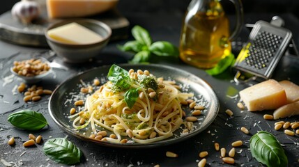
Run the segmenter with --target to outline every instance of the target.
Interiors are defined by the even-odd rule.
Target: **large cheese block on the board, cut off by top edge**
[[[114,8],[118,0],[47,0],[49,18],[86,17]]]

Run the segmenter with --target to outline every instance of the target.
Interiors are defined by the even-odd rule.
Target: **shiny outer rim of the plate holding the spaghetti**
[[[59,122],[59,119],[57,120],[54,116],[54,111],[52,111],[52,99],[54,98],[54,95],[56,94],[56,92],[59,91],[59,89],[61,88],[61,86],[63,86],[64,84],[68,83],[68,81],[71,81],[72,79],[75,79],[77,77],[80,77],[84,74],[88,74],[89,72],[92,72],[92,71],[96,71],[96,70],[103,70],[107,67],[111,67],[111,65],[102,65],[100,67],[93,67],[89,70],[85,70],[83,72],[79,72],[78,74],[76,74],[75,76],[72,76],[68,79],[66,79],[65,81],[61,82],[61,84],[59,84],[59,86],[57,86],[52,95],[49,97],[49,103],[48,103],[48,111],[49,111],[49,115],[51,116],[52,120],[56,123],[56,125],[59,126],[59,128],[63,129],[64,132],[72,135],[72,136],[75,136],[76,138],[80,138],[82,141],[88,141],[89,143],[97,143],[99,145],[103,145],[103,146],[108,146],[108,147],[111,147],[111,148],[130,148],[130,149],[135,149],[135,148],[156,148],[156,147],[161,147],[161,146],[164,146],[164,145],[171,145],[171,144],[174,144],[174,143],[179,143],[181,141],[185,141],[189,138],[192,138],[193,136],[196,136],[197,134],[200,134],[201,132],[203,132],[206,128],[208,128],[210,126],[210,124],[212,124],[215,120],[215,118],[217,117],[217,114],[219,113],[219,110],[220,110],[220,103],[219,103],[219,100],[217,98],[217,95],[215,93],[215,91],[213,90],[213,88],[210,86],[210,84],[208,84],[207,81],[205,81],[204,79],[201,79],[201,77],[198,77],[197,75],[195,74],[192,74],[191,72],[188,72],[186,70],[181,70],[179,68],[176,68],[176,67],[172,67],[172,66],[169,66],[169,65],[162,65],[162,64],[154,64],[154,63],[151,63],[151,64],[147,64],[147,65],[142,65],[142,64],[129,64],[129,63],[122,63],[122,64],[117,64],[118,66],[120,67],[141,67],[141,66],[144,66],[144,67],[147,67],[147,66],[151,66],[151,67],[162,67],[162,68],[167,68],[169,70],[175,70],[175,71],[179,71],[179,72],[183,72],[183,73],[187,73],[188,76],[190,77],[194,77],[196,79],[199,79],[199,81],[201,82],[200,84],[201,85],[204,85],[205,88],[208,88],[208,93],[211,97],[213,97],[213,99],[215,100],[215,111],[213,111],[215,114],[213,115],[213,118],[211,119],[210,122],[208,122],[206,125],[204,125],[203,127],[201,127],[201,130],[199,131],[196,131],[196,132],[193,132],[193,133],[190,133],[190,134],[187,134],[187,135],[184,135],[184,136],[181,136],[181,137],[178,137],[178,138],[170,138],[167,140],[164,139],[162,141],[157,141],[157,142],[154,142],[154,143],[146,143],[146,144],[142,144],[142,143],[125,143],[125,144],[122,144],[122,143],[110,143],[110,142],[102,142],[102,141],[97,141],[93,138],[88,138],[88,137],[84,137],[82,134],[79,134],[78,132],[75,132],[75,131],[72,131],[71,129],[68,129],[66,127],[64,127],[61,122]],[[64,93],[64,92],[63,92]],[[212,93],[212,94],[210,94]],[[213,101],[214,102],[214,101]],[[167,142],[165,142],[167,141]]]

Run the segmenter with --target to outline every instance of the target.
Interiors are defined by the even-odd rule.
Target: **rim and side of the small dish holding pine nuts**
[[[47,65],[49,66],[49,70],[47,70],[47,72],[45,72],[43,74],[34,75],[32,77],[26,77],[24,75],[17,74],[17,72],[15,72],[13,70],[13,67],[10,67],[10,72],[13,73],[16,77],[19,77],[19,78],[23,79],[24,82],[26,82],[26,84],[35,84],[35,83],[38,83],[44,77],[46,77],[48,74],[52,73],[52,67],[51,67],[49,61],[47,61],[45,58],[36,58],[36,59],[40,59],[43,63],[47,63]]]

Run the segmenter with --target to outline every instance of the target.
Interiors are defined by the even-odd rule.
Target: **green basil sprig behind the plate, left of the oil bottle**
[[[132,35],[135,40],[126,42],[123,46],[118,46],[122,51],[132,51],[135,56],[130,63],[149,63],[151,56],[175,56],[179,52],[178,48],[167,41],[152,42],[151,35],[141,26],[132,28]]]

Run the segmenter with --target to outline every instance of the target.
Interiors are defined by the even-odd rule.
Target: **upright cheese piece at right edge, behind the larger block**
[[[279,81],[279,84],[284,87],[286,91],[286,99],[288,103],[296,102],[299,100],[299,86],[291,81]]]

